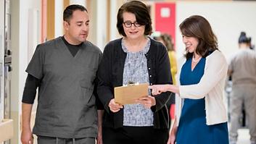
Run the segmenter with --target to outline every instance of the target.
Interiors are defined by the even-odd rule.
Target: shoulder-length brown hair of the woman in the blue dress
[[[218,50],[218,39],[212,32],[212,27],[205,17],[193,15],[181,22],[179,27],[182,35],[198,39],[196,53],[202,57],[206,57],[212,51]],[[186,52],[185,56],[186,59],[189,59],[193,54]]]

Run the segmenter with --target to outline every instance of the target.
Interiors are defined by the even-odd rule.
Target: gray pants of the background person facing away
[[[242,104],[247,117],[250,140],[256,142],[256,85],[233,85],[230,99],[231,127],[230,140],[236,141]]]

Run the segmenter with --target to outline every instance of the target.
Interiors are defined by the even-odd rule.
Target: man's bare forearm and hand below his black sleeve
[[[30,127],[30,117],[33,104],[22,103],[22,144],[33,144],[33,134]]]

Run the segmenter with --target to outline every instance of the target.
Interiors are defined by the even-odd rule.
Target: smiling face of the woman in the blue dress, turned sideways
[[[182,41],[186,46],[186,51],[189,51],[189,53],[194,53],[194,51],[196,51],[199,43],[197,38],[182,35]]]

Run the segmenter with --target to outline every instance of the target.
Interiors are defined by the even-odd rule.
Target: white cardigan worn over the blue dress
[[[225,56],[216,50],[206,57],[205,73],[196,85],[180,85],[181,67],[186,62],[183,57],[178,61],[177,85],[180,94],[176,95],[176,124],[178,126],[183,106],[183,98],[205,98],[206,124],[219,124],[228,121],[223,99],[224,85],[228,71]]]

